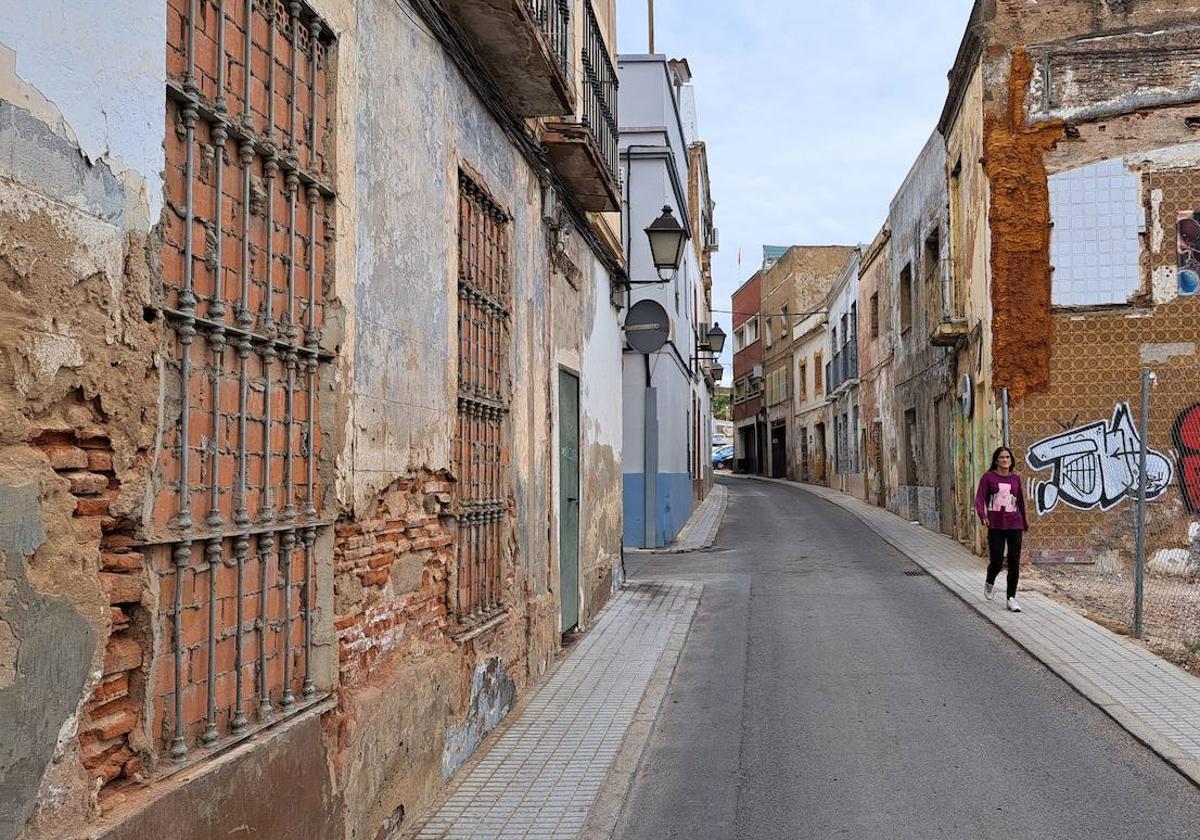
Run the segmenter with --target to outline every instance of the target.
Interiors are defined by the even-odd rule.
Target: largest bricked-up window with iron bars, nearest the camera
[[[168,0],[152,515],[155,749],[175,762],[306,708],[331,562],[318,384],[332,278],[332,37],[304,4]],[[174,425],[172,418],[174,416]],[[178,763],[175,764],[178,767]]]

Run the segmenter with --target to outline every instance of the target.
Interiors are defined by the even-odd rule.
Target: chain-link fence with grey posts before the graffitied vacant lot
[[[1026,398],[1009,413],[1028,484],[1030,584],[1193,670],[1200,667],[1196,384],[1193,359],[1141,371],[1096,366],[1076,400]]]

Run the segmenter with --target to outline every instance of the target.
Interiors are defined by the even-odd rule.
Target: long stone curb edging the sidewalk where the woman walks
[[[1000,630],[1004,636],[1015,642],[1019,648],[1025,650],[1032,659],[1034,659],[1043,667],[1045,667],[1046,671],[1058,677],[1063,683],[1074,689],[1081,697],[1087,700],[1096,708],[1098,708],[1100,712],[1111,718],[1117,724],[1117,726],[1120,726],[1130,736],[1133,736],[1134,740],[1138,740],[1139,743],[1148,748],[1152,752],[1154,752],[1154,755],[1157,755],[1159,758],[1162,758],[1172,768],[1175,768],[1175,770],[1178,772],[1180,775],[1184,776],[1196,787],[1200,787],[1200,760],[1196,760],[1195,757],[1183,752],[1178,746],[1175,745],[1174,742],[1159,734],[1157,730],[1146,724],[1146,721],[1139,718],[1127,706],[1115,700],[1110,694],[1100,689],[1098,685],[1096,685],[1096,683],[1093,683],[1091,679],[1081,674],[1068,662],[1058,661],[1052,654],[1050,654],[1045,648],[1043,648],[1037,642],[1021,640],[1014,636],[1012,632],[1009,632],[1008,628],[994,620],[986,612],[980,610],[974,601],[968,600],[966,595],[964,595],[958,589],[958,587],[953,584],[952,581],[943,578],[943,576],[937,570],[926,565],[922,560],[922,558],[910,553],[908,550],[900,546],[888,534],[883,533],[877,527],[875,527],[875,523],[872,523],[865,516],[859,514],[857,510],[854,510],[848,505],[841,504],[841,502],[836,498],[829,498],[823,493],[809,490],[803,484],[796,481],[786,481],[784,479],[768,479],[763,476],[754,476],[750,478],[750,480],[770,481],[774,484],[781,484],[796,487],[797,490],[808,493],[809,496],[821,499],[822,502],[827,502],[828,504],[835,505],[841,510],[845,510],[847,514],[854,516],[859,522],[862,522],[872,532],[875,532],[875,534],[880,536],[880,539],[882,539],[884,542],[890,545],[898,552],[900,552],[910,560],[912,560],[922,569],[924,569],[930,577],[932,577],[942,586],[943,589],[953,594],[955,598],[962,601],[962,604],[968,606],[976,614],[978,614],[980,618],[986,620],[994,628]]]

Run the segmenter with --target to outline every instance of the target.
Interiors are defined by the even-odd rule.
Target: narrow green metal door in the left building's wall
[[[580,623],[580,378],[558,372],[558,569],[563,630]]]

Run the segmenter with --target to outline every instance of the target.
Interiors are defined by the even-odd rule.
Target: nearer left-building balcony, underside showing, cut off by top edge
[[[570,0],[456,0],[445,8],[516,113],[575,113]]]

